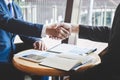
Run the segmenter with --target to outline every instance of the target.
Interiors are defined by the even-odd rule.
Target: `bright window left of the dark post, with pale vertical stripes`
[[[24,19],[35,23],[64,20],[67,0],[19,0]]]

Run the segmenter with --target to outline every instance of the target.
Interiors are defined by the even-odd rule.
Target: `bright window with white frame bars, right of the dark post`
[[[78,23],[111,27],[119,2],[119,0],[81,0]]]

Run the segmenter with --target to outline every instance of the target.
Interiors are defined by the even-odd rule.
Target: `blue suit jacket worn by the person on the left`
[[[4,0],[0,0],[0,62],[8,62],[11,51],[14,51],[15,34],[40,37],[42,24],[32,24],[22,19],[20,8],[13,2],[15,17],[11,17]],[[14,35],[13,35],[14,33]],[[33,42],[35,39],[30,37]],[[28,39],[24,40],[27,42]]]

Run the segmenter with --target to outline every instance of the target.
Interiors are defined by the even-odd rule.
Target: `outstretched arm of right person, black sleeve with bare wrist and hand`
[[[93,41],[108,42],[110,35],[110,28],[107,26],[85,26],[79,24],[61,23],[59,27],[70,32],[77,33],[79,38],[90,39]]]

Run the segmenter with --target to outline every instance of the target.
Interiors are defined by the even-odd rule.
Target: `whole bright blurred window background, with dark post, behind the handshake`
[[[120,0],[15,0],[26,21],[34,23],[72,22],[111,27]],[[28,15],[29,14],[29,15]],[[17,42],[21,42],[19,39]]]

